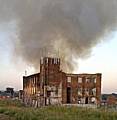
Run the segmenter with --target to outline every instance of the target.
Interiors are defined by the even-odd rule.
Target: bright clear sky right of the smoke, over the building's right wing
[[[80,73],[102,73],[102,93],[117,93],[117,31],[108,34],[106,42],[99,43],[92,55],[79,60]]]

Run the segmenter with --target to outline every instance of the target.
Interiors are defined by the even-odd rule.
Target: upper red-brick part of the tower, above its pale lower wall
[[[60,58],[44,57],[40,59],[40,75],[44,85],[56,82],[56,75],[60,72]]]

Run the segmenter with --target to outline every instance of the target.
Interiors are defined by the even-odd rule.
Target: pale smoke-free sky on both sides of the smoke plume
[[[19,59],[13,60],[13,26],[0,26],[0,89],[22,89],[22,76],[34,73],[33,67]],[[108,34],[106,42],[92,49],[91,56],[78,61],[75,73],[102,73],[102,93],[117,93],[117,31]]]

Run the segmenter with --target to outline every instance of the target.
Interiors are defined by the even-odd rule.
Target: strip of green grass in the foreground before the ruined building
[[[60,106],[36,109],[23,107],[18,101],[0,102],[0,114],[13,117],[15,120],[117,120],[117,112],[104,109]]]

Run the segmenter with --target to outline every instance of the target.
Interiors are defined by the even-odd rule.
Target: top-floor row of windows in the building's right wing
[[[67,82],[71,83],[71,77],[67,77]],[[78,77],[78,83],[82,83],[83,82],[83,78],[82,77]],[[86,78],[85,79],[86,83],[96,83],[96,78]]]

